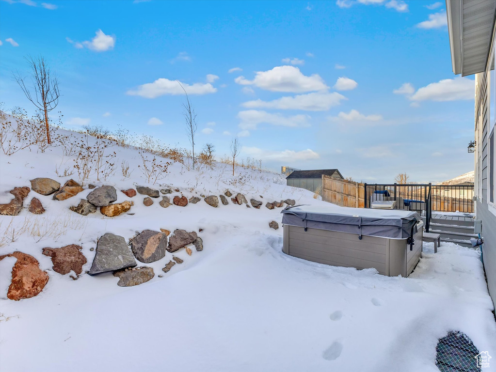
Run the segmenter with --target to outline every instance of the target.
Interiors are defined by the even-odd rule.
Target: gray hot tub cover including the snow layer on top
[[[417,232],[417,212],[345,208],[335,205],[295,206],[284,209],[282,223],[351,234],[407,239]]]

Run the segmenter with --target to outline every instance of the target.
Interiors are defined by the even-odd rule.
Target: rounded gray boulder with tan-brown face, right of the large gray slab
[[[167,235],[163,232],[143,230],[131,242],[131,250],[138,261],[145,264],[160,260],[165,256]]]

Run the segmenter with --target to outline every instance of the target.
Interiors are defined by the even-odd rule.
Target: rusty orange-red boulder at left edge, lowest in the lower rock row
[[[7,298],[19,301],[39,294],[48,282],[48,274],[40,269],[40,263],[33,256],[22,252],[14,252],[0,256],[15,257],[17,261],[12,267],[12,280],[8,287]]]

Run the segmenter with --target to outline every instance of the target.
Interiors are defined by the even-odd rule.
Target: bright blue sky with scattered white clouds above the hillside
[[[0,101],[23,56],[57,72],[68,128],[118,125],[217,155],[240,136],[265,166],[391,182],[473,169],[473,77],[453,75],[444,1],[0,0]],[[53,113],[53,118],[57,119]]]

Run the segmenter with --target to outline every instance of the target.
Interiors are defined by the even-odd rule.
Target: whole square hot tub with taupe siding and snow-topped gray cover
[[[410,211],[295,206],[283,210],[283,252],[332,266],[408,276],[422,253],[420,215]]]

